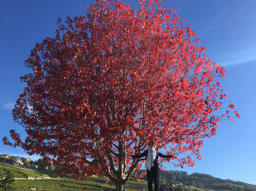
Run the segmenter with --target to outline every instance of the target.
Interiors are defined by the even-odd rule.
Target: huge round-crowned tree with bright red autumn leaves
[[[138,5],[96,0],[86,16],[58,20],[55,38],[25,61],[32,72],[21,77],[27,87],[13,116],[27,137],[11,130],[14,143],[4,144],[52,161],[60,175],[106,175],[116,190],[142,166],[127,155],[148,140],[178,156],[176,167],[201,159],[204,138],[234,110],[219,89],[224,68],[175,10],[157,0]]]

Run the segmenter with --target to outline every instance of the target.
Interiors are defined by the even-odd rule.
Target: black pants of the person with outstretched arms
[[[155,191],[159,191],[159,165],[150,167],[150,171],[147,170],[148,177],[148,191],[152,191],[153,179],[155,183]]]

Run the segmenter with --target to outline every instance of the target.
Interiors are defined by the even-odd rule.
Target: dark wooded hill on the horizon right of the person
[[[182,183],[184,186],[195,186],[203,189],[240,191],[243,188],[244,191],[256,191],[256,185],[239,181],[235,182],[229,179],[222,180],[221,178],[215,178],[211,175],[197,172],[188,175],[185,171],[160,171],[159,178],[160,182],[169,185]]]

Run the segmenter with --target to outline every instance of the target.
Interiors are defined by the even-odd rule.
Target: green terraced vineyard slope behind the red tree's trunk
[[[65,177],[58,177],[58,175],[51,175],[47,180],[28,180],[27,177],[48,177],[46,174],[24,170],[12,166],[0,164],[0,175],[10,171],[14,178],[24,178],[15,180],[13,183],[16,191],[31,191],[31,189],[40,189],[40,191],[114,191],[115,185],[106,183],[106,178],[87,177],[84,180],[74,180],[71,175]],[[1,180],[1,179],[0,179]],[[147,190],[147,182],[128,181],[126,187],[144,187]],[[140,189],[127,189],[128,191],[140,191]]]

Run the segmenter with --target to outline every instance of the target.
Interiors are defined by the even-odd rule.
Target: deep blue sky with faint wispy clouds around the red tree
[[[16,129],[24,139],[23,128],[14,123],[11,109],[25,84],[19,77],[28,72],[23,63],[36,43],[55,36],[61,17],[84,15],[84,6],[93,0],[0,0],[0,139]],[[136,0],[124,0],[133,9]],[[221,88],[240,113],[235,124],[219,124],[217,134],[204,141],[201,161],[188,174],[199,172],[214,177],[256,185],[256,1],[255,0],[164,0],[188,19],[207,57],[226,68]],[[21,148],[0,143],[0,154],[27,156]],[[39,156],[30,156],[36,160]],[[175,170],[166,164],[167,170]],[[178,169],[181,170],[181,169]]]

